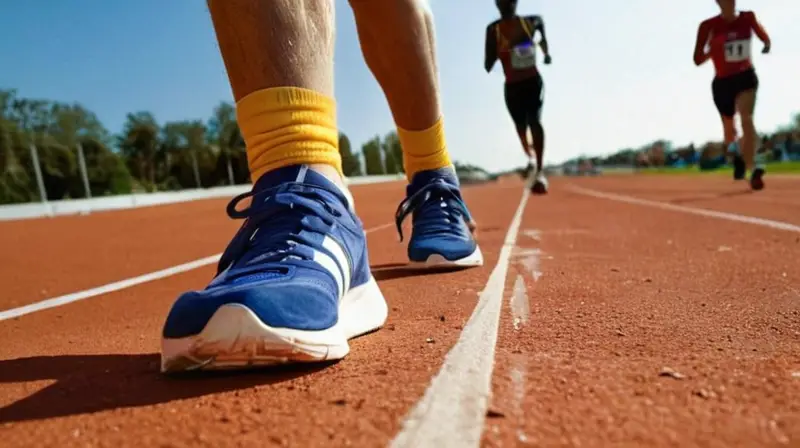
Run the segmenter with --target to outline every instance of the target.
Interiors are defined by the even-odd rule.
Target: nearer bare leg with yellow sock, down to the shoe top
[[[209,0],[208,6],[252,181],[305,163],[343,186],[333,99],[333,2]]]

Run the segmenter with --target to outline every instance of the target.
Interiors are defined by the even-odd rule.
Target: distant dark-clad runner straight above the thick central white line
[[[528,170],[533,169],[531,144],[528,129],[533,136],[533,152],[536,155],[536,173],[532,189],[534,193],[547,192],[544,176],[544,129],[541,109],[544,102],[542,77],[536,68],[536,43],[534,34],[539,31],[542,38],[539,46],[544,52],[544,63],[551,62],[544,33],[544,22],[539,16],[518,16],[517,0],[496,0],[500,19],[486,27],[486,72],[492,71],[500,59],[505,73],[506,107],[514,120],[522,150],[528,156]]]

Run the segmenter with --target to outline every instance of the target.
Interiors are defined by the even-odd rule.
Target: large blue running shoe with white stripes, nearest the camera
[[[273,171],[227,211],[244,222],[211,283],[172,305],[162,372],[341,359],[348,339],[384,324],[361,221],[324,176],[306,166]]]

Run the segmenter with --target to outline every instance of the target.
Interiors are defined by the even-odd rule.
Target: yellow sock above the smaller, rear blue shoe
[[[452,165],[441,118],[424,131],[407,131],[398,126],[397,136],[403,146],[403,168],[409,182],[420,171]]]

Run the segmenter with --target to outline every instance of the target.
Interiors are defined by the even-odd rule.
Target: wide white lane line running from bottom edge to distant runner
[[[525,188],[508,227],[497,265],[489,275],[472,316],[390,446],[480,446],[491,394],[506,274],[529,195],[530,190]]]

